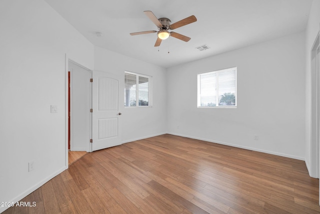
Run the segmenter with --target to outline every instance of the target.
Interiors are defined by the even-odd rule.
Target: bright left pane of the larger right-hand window
[[[200,74],[200,106],[209,107],[216,106],[216,74],[205,73]]]

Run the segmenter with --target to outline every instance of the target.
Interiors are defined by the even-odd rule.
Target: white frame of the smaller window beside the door
[[[136,87],[135,87],[135,106],[125,106],[124,100],[124,108],[148,108],[152,107],[152,76],[139,74],[130,71],[124,71],[124,80],[125,74],[133,74],[136,76]],[[139,106],[139,77],[147,78],[148,79],[148,105],[147,106]],[[125,82],[124,82],[124,99],[125,99]]]

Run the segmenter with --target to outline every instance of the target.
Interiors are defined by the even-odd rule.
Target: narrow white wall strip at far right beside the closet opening
[[[311,49],[320,28],[320,1],[313,1],[305,30],[305,163],[310,173],[311,166]]]

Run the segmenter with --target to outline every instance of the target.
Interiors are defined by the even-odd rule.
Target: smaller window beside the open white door
[[[151,106],[151,77],[124,72],[124,106]]]

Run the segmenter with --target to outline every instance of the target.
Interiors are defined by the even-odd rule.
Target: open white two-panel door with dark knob
[[[120,75],[93,71],[92,81],[91,151],[95,151],[121,144],[121,110],[124,104],[119,105],[119,98],[124,96],[120,90],[124,80]]]

